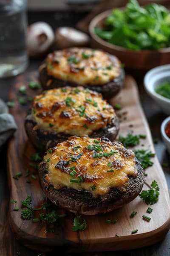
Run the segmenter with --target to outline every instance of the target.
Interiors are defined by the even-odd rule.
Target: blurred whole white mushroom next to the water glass
[[[43,57],[54,43],[54,32],[48,23],[32,23],[27,30],[27,49],[31,57]]]

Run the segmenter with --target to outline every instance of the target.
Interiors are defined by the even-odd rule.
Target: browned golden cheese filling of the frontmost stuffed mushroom
[[[44,157],[47,184],[107,194],[111,188],[125,192],[128,176],[137,177],[134,153],[122,143],[104,139],[70,137],[50,148]]]

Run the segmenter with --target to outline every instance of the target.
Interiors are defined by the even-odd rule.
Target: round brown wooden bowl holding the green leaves
[[[149,70],[153,67],[170,64],[170,47],[161,50],[141,50],[135,51],[124,47],[119,47],[104,41],[94,33],[96,26],[102,27],[105,18],[112,12],[111,10],[102,12],[94,17],[89,24],[89,32],[91,35],[91,47],[103,49],[113,55],[116,55],[125,68],[137,70]]]

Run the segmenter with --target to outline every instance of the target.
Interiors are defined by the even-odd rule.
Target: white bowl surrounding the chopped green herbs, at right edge
[[[165,81],[170,82],[170,64],[154,67],[144,76],[144,87],[152,99],[154,99],[166,115],[170,115],[170,99],[158,93],[155,89]]]

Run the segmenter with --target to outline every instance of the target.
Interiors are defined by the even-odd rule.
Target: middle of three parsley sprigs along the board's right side
[[[141,162],[142,167],[145,169],[148,166],[152,166],[153,162],[150,161],[151,157],[155,156],[155,153],[152,153],[149,150],[144,150],[144,149],[134,149],[133,150],[135,153],[136,158],[139,160],[139,162]]]

